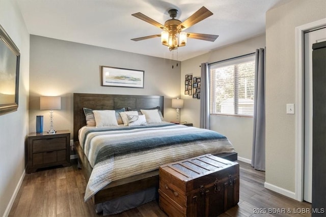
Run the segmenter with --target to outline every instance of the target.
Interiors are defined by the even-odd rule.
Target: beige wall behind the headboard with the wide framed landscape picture
[[[144,88],[101,86],[100,66],[144,70]],[[49,111],[39,110],[40,96],[61,96],[61,110],[54,111],[55,130],[73,131],[73,92],[165,96],[165,118],[174,118],[171,99],[180,97],[180,70],[169,59],[31,35],[30,121],[35,132],[36,115],[44,115],[49,129]],[[72,136],[72,134],[71,134]]]

